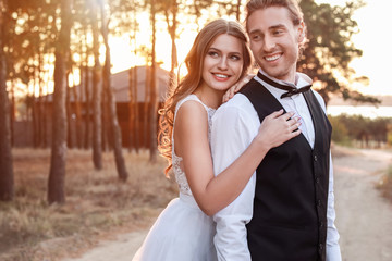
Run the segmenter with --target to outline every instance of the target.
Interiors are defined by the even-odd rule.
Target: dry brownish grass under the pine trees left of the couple
[[[95,171],[91,151],[69,150],[62,206],[47,203],[50,150],[14,149],[15,198],[0,202],[0,260],[60,260],[97,238],[143,229],[176,196],[163,175],[166,161],[125,152],[128,179],[118,179],[113,153]],[[72,254],[71,254],[72,256]]]

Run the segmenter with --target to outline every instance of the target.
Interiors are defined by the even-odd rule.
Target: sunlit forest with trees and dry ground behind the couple
[[[243,21],[244,4],[0,0],[1,259],[56,260],[81,251],[91,237],[145,226],[175,196],[157,152],[159,78],[168,89],[181,77],[176,42],[187,30],[197,32],[218,17]],[[352,16],[365,3],[299,4],[309,40],[298,71],[314,78],[327,105],[334,98],[380,104],[382,97],[352,88],[369,82],[351,67],[363,54],[352,41],[358,33]],[[145,23],[148,45],[138,41]],[[171,39],[169,72],[157,60],[158,34]],[[118,48],[112,39],[124,36],[135,62],[121,92],[111,50]],[[390,117],[342,114],[330,120],[334,142],[373,149],[392,145]],[[22,137],[28,139],[27,148],[17,142]],[[385,195],[391,175],[383,182]]]

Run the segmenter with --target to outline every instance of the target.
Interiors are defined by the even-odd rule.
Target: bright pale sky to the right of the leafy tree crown
[[[316,0],[316,2],[343,5],[344,0]],[[392,1],[367,0],[367,4],[353,16],[358,23],[359,33],[353,36],[356,48],[363,55],[352,62],[358,75],[369,77],[367,87],[357,87],[366,95],[392,95]]]

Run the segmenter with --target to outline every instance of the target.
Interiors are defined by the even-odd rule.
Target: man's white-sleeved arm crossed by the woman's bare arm
[[[216,175],[235,161],[256,136],[259,123],[255,124],[249,116],[248,119],[246,116],[248,116],[247,112],[229,104],[216,112],[211,132],[211,153]],[[253,216],[255,182],[254,174],[243,192],[213,216],[217,222],[213,241],[220,261],[250,261],[245,225]]]

